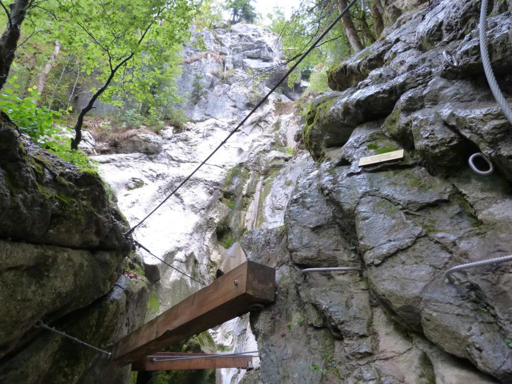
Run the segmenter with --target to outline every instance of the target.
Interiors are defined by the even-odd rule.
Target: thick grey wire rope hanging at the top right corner
[[[512,109],[501,92],[498,82],[496,81],[496,77],[494,76],[493,68],[490,65],[489,51],[487,50],[487,3],[488,0],[482,0],[482,7],[480,9],[480,25],[478,27],[480,35],[480,55],[482,56],[483,69],[485,76],[487,77],[490,90],[493,92],[494,98],[500,105],[500,108],[506,118],[510,124],[512,124]]]

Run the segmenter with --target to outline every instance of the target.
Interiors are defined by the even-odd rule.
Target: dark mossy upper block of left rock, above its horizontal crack
[[[71,248],[131,248],[100,176],[0,129],[0,238]]]

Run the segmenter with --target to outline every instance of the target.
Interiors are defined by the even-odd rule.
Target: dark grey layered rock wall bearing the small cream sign
[[[395,25],[328,72],[333,91],[303,130],[316,163],[284,227],[243,239],[251,260],[278,269],[275,305],[251,315],[262,361],[245,383],[512,382],[510,263],[444,276],[512,253],[512,126],[483,74],[480,2],[413,3],[387,2]],[[511,6],[488,18],[509,102]],[[402,148],[401,161],[358,166]],[[497,172],[473,173],[477,152]],[[301,273],[334,266],[361,273]]]

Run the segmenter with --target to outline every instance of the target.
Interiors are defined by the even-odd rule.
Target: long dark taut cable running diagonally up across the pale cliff
[[[263,105],[263,103],[265,101],[268,100],[268,98],[270,97],[270,95],[272,93],[274,93],[274,91],[276,89],[278,89],[281,84],[285,81],[285,79],[298,67],[298,65],[306,58],[307,55],[309,55],[311,53],[312,50],[314,50],[316,48],[316,45],[322,41],[322,39],[331,31],[332,28],[334,28],[334,26],[339,22],[339,20],[342,19],[342,17],[345,15],[345,13],[347,13],[350,8],[352,8],[352,6],[354,4],[356,4],[358,2],[358,0],[352,0],[352,2],[347,5],[347,8],[345,8],[342,12],[339,13],[339,15],[334,19],[334,21],[329,25],[329,27],[327,27],[327,29],[315,40],[315,42],[311,45],[311,47],[309,47],[309,49],[304,52],[304,54],[301,56],[300,59],[298,59],[294,64],[293,66],[290,67],[290,69],[286,72],[286,74],[278,81],[278,83],[276,83],[272,89],[260,100],[260,102],[258,104],[256,104],[254,106],[254,108],[249,112],[249,114],[247,116],[244,117],[244,119],[237,125],[237,127],[232,130],[229,135],[227,135],[227,137],[221,141],[221,143],[215,148],[214,151],[212,151],[194,170],[193,172],[191,172],[187,177],[185,177],[185,179],[183,179],[181,181],[181,183],[178,184],[178,186],[176,188],[174,188],[171,193],[169,195],[167,195],[165,197],[165,199],[162,200],[162,202],[160,202],[160,204],[158,204],[149,214],[147,214],[142,220],[140,220],[137,224],[135,224],[132,228],[130,228],[126,233],[125,233],[125,236],[128,237],[137,227],[139,227],[142,223],[144,223],[148,218],[150,218],[150,216],[152,216],[163,204],[165,204],[167,202],[167,200],[169,200],[171,197],[173,197],[176,192],[188,181],[190,180],[197,172],[199,169],[201,169],[201,167],[203,165],[206,164],[206,162],[211,159],[212,156],[214,156],[217,151],[220,150],[220,148],[222,148],[222,146],[235,134],[237,133],[240,128],[242,127],[242,125],[244,125],[244,123],[249,119],[249,117],[251,117],[259,108],[260,106]]]

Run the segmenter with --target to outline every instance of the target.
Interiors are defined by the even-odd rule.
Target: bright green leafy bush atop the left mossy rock
[[[27,89],[28,96],[19,96],[20,86],[15,83],[17,77],[13,76],[0,95],[0,110],[4,111],[18,126],[19,131],[32,138],[41,147],[45,147],[55,140],[55,135],[60,132],[57,124],[61,124],[60,117],[67,113],[52,111],[46,106],[38,107],[36,102],[40,100],[36,92],[37,87]]]

